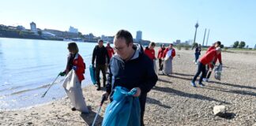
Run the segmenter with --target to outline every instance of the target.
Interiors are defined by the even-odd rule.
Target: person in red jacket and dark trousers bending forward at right
[[[199,62],[198,62],[198,72],[194,75],[194,78],[191,81],[191,85],[193,87],[196,87],[194,82],[195,82],[195,80],[197,80],[197,78],[200,75],[200,73],[201,73],[201,77],[199,79],[198,84],[201,87],[204,86],[204,84],[201,83],[201,81],[202,81],[203,77],[206,74],[205,65],[213,65],[214,59],[217,57],[218,54],[220,54],[220,52],[221,52],[220,47],[217,47],[215,50],[210,50],[208,53],[206,53],[203,57],[201,57],[199,59]]]

